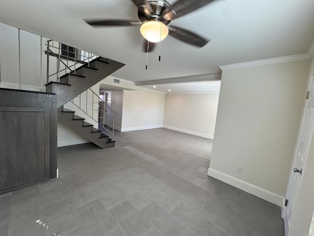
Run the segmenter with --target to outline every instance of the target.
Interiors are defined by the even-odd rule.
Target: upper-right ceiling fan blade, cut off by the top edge
[[[213,0],[177,0],[171,7],[165,10],[162,17],[164,20],[171,21],[190,13],[191,11],[195,11],[211,1]]]

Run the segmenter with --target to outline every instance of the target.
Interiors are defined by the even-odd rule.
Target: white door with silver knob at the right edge
[[[288,204],[284,207],[282,217],[285,222],[285,234],[288,236],[288,231],[291,222],[293,221],[293,205],[299,192],[299,186],[302,181],[302,169],[306,164],[311,138],[314,128],[314,74],[312,74],[309,83],[309,94],[306,100],[306,107],[303,113],[302,123],[299,130],[297,145],[294,152],[293,165],[290,172],[287,200]]]

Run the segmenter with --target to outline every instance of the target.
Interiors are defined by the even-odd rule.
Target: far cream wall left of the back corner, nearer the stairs
[[[161,128],[165,94],[146,89],[124,90],[121,132]]]

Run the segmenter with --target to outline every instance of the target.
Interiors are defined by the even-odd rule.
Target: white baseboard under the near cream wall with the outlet
[[[275,193],[272,193],[266,189],[260,188],[258,186],[255,186],[251,183],[245,182],[243,180],[240,180],[238,178],[226,175],[222,172],[215,171],[213,169],[208,169],[208,175],[211,177],[214,177],[218,180],[221,180],[225,183],[228,183],[236,188],[239,188],[245,192],[248,192],[250,194],[253,194],[259,198],[262,198],[266,200],[267,202],[273,203],[279,207],[284,206],[285,198],[282,196],[279,196]]]

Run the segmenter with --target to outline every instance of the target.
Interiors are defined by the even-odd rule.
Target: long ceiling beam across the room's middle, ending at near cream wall
[[[200,81],[217,81],[217,80],[221,80],[221,74],[195,75],[195,76],[176,77],[176,78],[168,78],[168,79],[160,79],[160,80],[147,80],[147,81],[135,82],[135,85],[136,86],[163,85],[163,84],[200,82]]]

